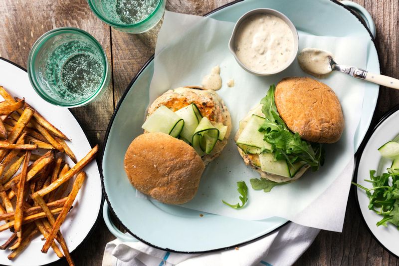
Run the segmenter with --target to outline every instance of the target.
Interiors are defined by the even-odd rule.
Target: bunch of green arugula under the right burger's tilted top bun
[[[259,129],[264,132],[264,140],[271,144],[270,152],[276,160],[287,160],[294,163],[308,163],[313,171],[317,171],[324,163],[324,149],[321,144],[311,144],[301,139],[298,133],[291,132],[278,114],[274,102],[275,86],[271,85],[266,96],[260,101],[265,120]]]

